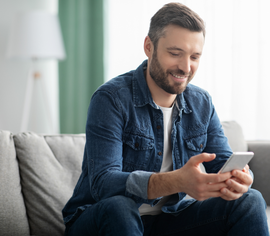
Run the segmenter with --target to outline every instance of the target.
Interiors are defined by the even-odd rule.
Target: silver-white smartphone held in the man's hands
[[[245,165],[254,156],[253,152],[233,152],[225,164],[221,167],[219,173],[230,172],[232,170],[243,170]]]

